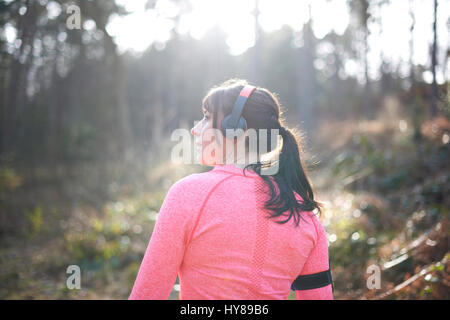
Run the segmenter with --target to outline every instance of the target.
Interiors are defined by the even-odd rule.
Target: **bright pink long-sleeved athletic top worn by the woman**
[[[177,275],[179,299],[287,299],[298,275],[328,270],[317,217],[302,212],[298,227],[293,218],[285,224],[267,219],[263,188],[258,174],[246,170],[244,176],[233,164],[176,182],[129,299],[168,299]],[[333,299],[332,287],[297,290],[296,297]]]

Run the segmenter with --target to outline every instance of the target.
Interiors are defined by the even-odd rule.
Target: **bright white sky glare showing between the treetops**
[[[107,31],[122,51],[131,49],[144,51],[153,42],[166,42],[171,38],[172,30],[180,34],[189,34],[201,40],[213,27],[218,27],[226,35],[226,43],[232,55],[244,53],[255,44],[255,2],[239,0],[190,0],[189,12],[183,11],[175,26],[174,17],[181,13],[183,3],[171,0],[158,0],[154,9],[145,10],[147,0],[116,0],[129,15],[111,18]],[[415,64],[429,64],[429,44],[431,43],[433,8],[428,1],[413,1],[416,25],[414,29]],[[303,25],[312,18],[315,37],[322,39],[330,31],[343,35],[350,22],[350,12],[346,1],[328,0],[259,0],[259,25],[266,33],[290,26],[294,32],[302,30]],[[439,2],[438,41],[440,45],[448,42],[447,18],[450,2]],[[382,57],[388,62],[400,65],[405,74],[409,69],[404,64],[409,60],[409,40],[411,18],[408,1],[392,1],[389,5],[374,6],[373,14],[380,18],[383,28],[370,23],[369,36],[369,75],[379,77]],[[13,36],[9,35],[9,38]],[[301,45],[301,41],[299,42]],[[361,48],[360,48],[361,49]],[[438,51],[438,83],[443,82],[441,67],[445,60],[445,51]],[[401,63],[402,62],[402,63]],[[347,75],[358,76],[364,82],[364,70],[352,61],[345,65]],[[429,74],[424,74],[429,82]]]

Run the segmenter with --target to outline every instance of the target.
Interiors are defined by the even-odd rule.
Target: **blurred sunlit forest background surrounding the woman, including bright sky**
[[[168,188],[210,169],[172,163],[171,133],[243,78],[304,133],[335,298],[449,299],[449,13],[448,0],[0,0],[0,298],[126,299]]]

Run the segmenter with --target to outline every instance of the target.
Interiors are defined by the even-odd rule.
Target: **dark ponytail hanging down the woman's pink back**
[[[296,226],[299,225],[301,211],[313,211],[317,209],[322,212],[320,203],[314,201],[314,194],[309,184],[308,178],[303,170],[300,159],[299,143],[295,134],[288,128],[280,126],[280,135],[283,139],[283,147],[279,154],[278,172],[273,176],[261,175],[262,164],[249,165],[256,167],[256,171],[269,186],[270,199],[265,203],[265,208],[271,211],[270,218],[285,216],[284,220],[277,220],[277,223],[283,224],[291,218],[294,219]],[[279,192],[273,183],[275,180]],[[301,196],[302,200],[297,200],[295,193]],[[286,212],[288,212],[286,215]]]

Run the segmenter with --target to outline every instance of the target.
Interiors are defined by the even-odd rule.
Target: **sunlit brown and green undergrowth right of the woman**
[[[450,123],[421,131],[414,142],[401,119],[319,130],[316,148],[329,161],[313,181],[336,299],[450,298]]]

